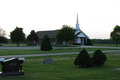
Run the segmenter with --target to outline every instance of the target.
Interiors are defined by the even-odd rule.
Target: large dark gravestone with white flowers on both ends
[[[1,58],[2,72],[0,73],[0,77],[24,75],[21,65],[24,61],[24,58],[11,58],[7,60]]]

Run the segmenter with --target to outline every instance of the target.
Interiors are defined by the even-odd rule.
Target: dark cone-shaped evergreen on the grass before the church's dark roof
[[[50,50],[52,50],[51,41],[50,41],[50,38],[48,37],[47,34],[45,34],[43,36],[40,48],[41,48],[42,51],[50,51]]]

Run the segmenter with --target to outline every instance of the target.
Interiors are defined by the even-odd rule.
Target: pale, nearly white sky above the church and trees
[[[76,26],[90,39],[109,39],[120,25],[120,0],[0,0],[0,27],[7,37],[16,26],[24,33],[31,30],[61,29]]]

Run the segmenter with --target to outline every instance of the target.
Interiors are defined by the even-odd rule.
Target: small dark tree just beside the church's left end
[[[39,37],[34,30],[32,30],[30,34],[27,36],[27,41],[32,41],[33,44],[34,42],[38,42],[38,39]]]

